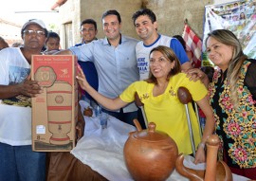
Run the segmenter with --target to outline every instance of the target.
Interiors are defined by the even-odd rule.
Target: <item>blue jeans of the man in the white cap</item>
[[[45,181],[46,153],[33,152],[31,145],[0,143],[1,181]]]

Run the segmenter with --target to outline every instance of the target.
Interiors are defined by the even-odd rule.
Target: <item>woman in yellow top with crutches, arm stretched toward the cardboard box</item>
[[[185,106],[177,98],[177,89],[180,86],[186,87],[207,118],[204,134],[199,140],[199,125],[194,112],[191,113],[193,137],[195,143],[200,145],[194,162],[205,161],[204,145],[207,137],[214,131],[208,91],[201,81],[190,81],[186,74],[181,73],[180,63],[171,48],[163,45],[153,48],[150,52],[149,79],[132,83],[116,99],[106,98],[95,91],[86,81],[82,69],[79,70],[77,79],[82,89],[110,110],[117,110],[134,101],[137,93],[139,100],[144,104],[148,121],[155,122],[157,130],[174,138],[179,153],[192,154]],[[192,110],[192,105],[189,106]]]

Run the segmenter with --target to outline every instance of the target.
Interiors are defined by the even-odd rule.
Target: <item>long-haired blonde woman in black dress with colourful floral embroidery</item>
[[[209,97],[221,139],[219,157],[231,172],[256,179],[256,61],[247,58],[239,40],[226,29],[210,32],[206,46],[217,66]],[[199,69],[188,73],[208,79]]]

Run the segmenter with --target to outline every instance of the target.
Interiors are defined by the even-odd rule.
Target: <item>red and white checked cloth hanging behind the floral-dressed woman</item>
[[[186,43],[187,50],[192,52],[192,66],[200,67],[201,66],[201,56],[202,56],[202,41],[201,39],[194,34],[192,28],[185,24],[182,37]]]

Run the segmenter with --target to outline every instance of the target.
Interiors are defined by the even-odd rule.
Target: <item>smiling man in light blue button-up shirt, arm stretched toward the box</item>
[[[108,98],[116,98],[128,85],[138,81],[135,48],[138,41],[120,34],[121,19],[117,10],[104,12],[102,24],[104,39],[70,47],[58,54],[74,54],[82,62],[93,62],[99,76],[99,92]],[[103,108],[103,112],[129,124],[134,124],[133,119],[137,118],[135,103],[115,112]]]

